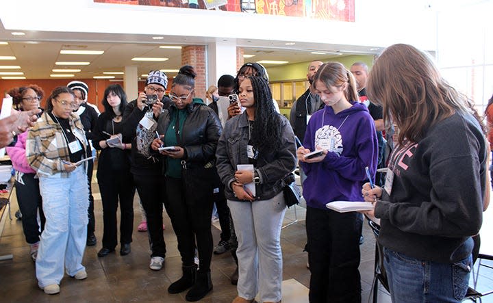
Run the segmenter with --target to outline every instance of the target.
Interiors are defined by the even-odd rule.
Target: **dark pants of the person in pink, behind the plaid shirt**
[[[45,213],[42,211],[42,198],[39,191],[39,179],[35,174],[23,174],[22,183],[15,181],[19,209],[23,215],[22,223],[27,243],[40,241],[41,231],[45,228]],[[38,210],[41,230],[38,224]]]

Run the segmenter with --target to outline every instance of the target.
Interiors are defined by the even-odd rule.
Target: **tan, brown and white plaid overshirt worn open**
[[[81,120],[77,114],[71,114],[69,124],[71,131],[87,150],[87,140]],[[62,127],[53,121],[45,111],[29,130],[26,140],[27,162],[36,170],[38,176],[68,178],[62,161],[70,161],[68,142]],[[86,166],[86,162],[84,162]]]

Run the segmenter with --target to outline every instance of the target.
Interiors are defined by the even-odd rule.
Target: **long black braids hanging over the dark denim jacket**
[[[273,103],[273,97],[266,79],[251,76],[253,99],[255,100],[255,121],[251,140],[264,153],[274,153],[282,143],[281,117]]]

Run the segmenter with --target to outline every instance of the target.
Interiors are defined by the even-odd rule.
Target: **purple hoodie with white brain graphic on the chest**
[[[325,105],[310,118],[303,146],[329,150],[323,161],[301,163],[307,174],[303,197],[307,206],[327,209],[328,202],[362,201],[362,185],[367,182],[365,167],[372,178],[377,170],[378,143],[375,122],[362,103],[334,114]]]

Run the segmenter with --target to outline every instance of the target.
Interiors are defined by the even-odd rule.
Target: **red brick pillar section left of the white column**
[[[205,101],[205,46],[191,45],[181,49],[181,65],[191,65],[197,73],[195,96]]]

